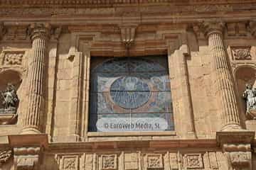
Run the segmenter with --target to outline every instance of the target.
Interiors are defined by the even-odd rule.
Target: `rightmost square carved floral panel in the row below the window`
[[[203,169],[202,154],[185,154],[183,162],[187,169]]]

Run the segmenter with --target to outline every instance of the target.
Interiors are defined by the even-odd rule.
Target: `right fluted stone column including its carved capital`
[[[238,101],[235,96],[235,84],[228,57],[226,56],[223,43],[224,23],[204,23],[203,28],[208,38],[210,54],[212,57],[211,67],[213,72],[213,91],[217,96],[220,118],[223,131],[241,129]]]

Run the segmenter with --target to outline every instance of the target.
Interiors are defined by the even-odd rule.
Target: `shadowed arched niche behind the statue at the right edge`
[[[245,91],[245,84],[252,84],[256,88],[256,68],[250,65],[245,65],[235,69],[235,82],[238,89],[238,98],[242,113],[246,112],[246,103],[242,98],[242,93]]]

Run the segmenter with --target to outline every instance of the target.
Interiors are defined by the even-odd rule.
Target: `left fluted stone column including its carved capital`
[[[29,32],[32,40],[32,52],[28,65],[28,109],[23,119],[22,134],[41,132],[46,43],[50,35],[50,25],[34,23],[30,26]]]

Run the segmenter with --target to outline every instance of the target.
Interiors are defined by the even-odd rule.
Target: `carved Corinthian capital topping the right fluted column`
[[[225,23],[219,22],[219,21],[208,21],[203,22],[201,25],[201,28],[203,30],[203,33],[208,38],[209,35],[213,33],[223,34],[223,30],[225,28]]]

